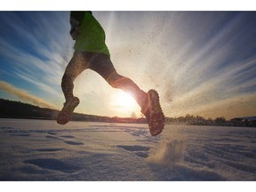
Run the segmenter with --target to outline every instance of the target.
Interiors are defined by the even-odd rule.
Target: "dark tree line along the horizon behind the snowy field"
[[[37,106],[22,103],[20,101],[0,99],[0,118],[25,118],[25,119],[46,119],[56,120],[59,111],[50,108],[39,108]],[[131,117],[109,117],[109,116],[92,116],[86,114],[74,113],[73,121],[87,122],[111,122],[111,123],[131,123],[147,124],[144,117],[136,118],[133,114]],[[214,126],[252,126],[256,127],[256,121],[246,118],[233,118],[226,120],[224,117],[215,119],[205,119],[203,116],[179,116],[165,117],[166,124],[189,124],[189,125],[214,125]]]

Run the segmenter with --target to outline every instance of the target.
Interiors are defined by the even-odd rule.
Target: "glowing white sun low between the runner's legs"
[[[132,95],[123,91],[115,92],[112,98],[112,106],[121,116],[131,116],[131,113],[137,111],[139,108]]]

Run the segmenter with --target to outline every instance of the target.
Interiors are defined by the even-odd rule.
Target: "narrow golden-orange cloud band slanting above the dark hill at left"
[[[47,102],[41,98],[38,98],[34,95],[29,94],[28,92],[25,92],[24,90],[21,90],[19,88],[14,87],[12,84],[8,84],[7,82],[0,81],[0,88],[4,90],[4,92],[11,93],[13,95],[16,95],[20,98],[20,100],[26,100],[28,102],[32,102],[33,104],[44,107],[44,108],[53,108],[56,109],[55,105],[53,105],[50,102]]]

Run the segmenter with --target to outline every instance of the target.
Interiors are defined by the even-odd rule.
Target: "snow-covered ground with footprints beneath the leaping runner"
[[[256,128],[0,119],[0,180],[256,180]]]

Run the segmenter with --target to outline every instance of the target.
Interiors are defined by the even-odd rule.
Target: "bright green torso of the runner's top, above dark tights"
[[[76,52],[100,52],[110,57],[108,47],[105,44],[106,36],[104,29],[90,12],[85,12],[78,32],[79,36],[74,45]]]

